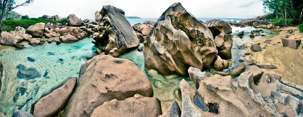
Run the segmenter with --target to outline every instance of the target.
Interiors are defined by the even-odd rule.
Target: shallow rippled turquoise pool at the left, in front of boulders
[[[31,112],[32,104],[41,96],[58,87],[66,79],[78,77],[80,67],[85,63],[84,56],[93,53],[94,44],[91,40],[86,38],[60,45],[45,43],[36,47],[27,45],[27,48],[22,50],[1,50],[0,61],[4,66],[4,76],[0,91],[0,111],[8,115],[18,109]],[[29,74],[36,69],[40,76],[19,78],[18,65],[28,69]]]

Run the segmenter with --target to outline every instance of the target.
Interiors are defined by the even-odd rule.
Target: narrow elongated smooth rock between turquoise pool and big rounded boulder
[[[34,104],[33,115],[36,117],[56,116],[60,110],[63,110],[71,97],[77,78],[66,80],[60,87],[48,93]]]

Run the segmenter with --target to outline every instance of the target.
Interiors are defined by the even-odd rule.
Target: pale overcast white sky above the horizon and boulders
[[[25,0],[15,0],[16,3]],[[94,19],[104,5],[124,10],[125,16],[159,18],[173,3],[180,2],[197,18],[253,18],[263,15],[262,0],[34,0],[14,11],[29,17],[75,14],[81,19]]]

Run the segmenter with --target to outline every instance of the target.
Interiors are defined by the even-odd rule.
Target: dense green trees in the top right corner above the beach
[[[297,26],[303,22],[303,0],[262,0],[265,18],[277,26]]]

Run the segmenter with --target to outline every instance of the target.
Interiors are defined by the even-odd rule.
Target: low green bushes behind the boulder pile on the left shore
[[[27,16],[28,17],[28,16]],[[43,17],[39,17],[39,18],[29,18],[29,19],[21,19],[21,20],[4,20],[2,21],[2,30],[4,31],[12,31],[15,30],[15,27],[17,26],[22,26],[25,29],[27,29],[29,26],[35,25],[37,23],[53,23],[53,24],[57,24],[57,23],[61,23],[61,24],[65,24],[67,23],[67,19],[63,18],[60,22],[56,21],[56,20],[52,20],[52,19],[44,19]]]

